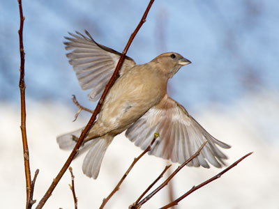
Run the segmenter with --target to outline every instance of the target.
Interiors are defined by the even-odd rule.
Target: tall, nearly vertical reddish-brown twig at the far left
[[[25,82],[24,82],[24,63],[25,63],[25,52],[23,46],[23,24],[25,17],[22,11],[22,1],[18,0],[18,6],[20,8],[20,30],[18,35],[20,36],[20,103],[21,103],[21,125],[22,130],[22,146],[23,146],[23,156],[24,156],[24,170],[25,170],[25,180],[26,180],[26,190],[27,190],[27,203],[26,208],[29,206],[30,193],[31,193],[31,172],[29,164],[29,150],[27,143],[27,130],[26,130],[26,106],[25,106]]]

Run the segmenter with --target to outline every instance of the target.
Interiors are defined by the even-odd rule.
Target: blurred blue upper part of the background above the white
[[[149,1],[23,1],[27,98],[86,101],[66,59],[63,36],[88,30],[121,52]],[[17,101],[20,56],[17,1],[0,3],[0,97]],[[137,63],[179,52],[193,64],[169,82],[187,107],[231,103],[278,90],[278,1],[155,1],[128,56]]]

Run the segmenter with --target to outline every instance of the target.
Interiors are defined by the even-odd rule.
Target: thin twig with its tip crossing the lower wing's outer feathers
[[[140,203],[138,203],[137,206],[135,206],[135,208],[141,208],[142,205],[144,203],[146,203],[146,201],[149,201],[149,199],[151,199],[152,196],[154,196],[157,192],[159,192],[160,189],[163,189],[163,187],[165,187],[167,185],[167,183],[169,183],[169,181],[172,180],[172,178],[176,175],[176,173],[178,173],[183,167],[186,166],[186,164],[191,162],[195,157],[197,157],[197,155],[199,155],[202,148],[204,148],[206,142],[207,142],[207,140],[204,141],[202,146],[199,147],[199,149],[197,150],[197,152],[194,155],[192,155],[188,160],[186,160],[186,162],[184,162],[179,167],[177,167],[177,169],[172,173],[172,175],[169,176],[169,178],[167,178],[159,187],[157,187],[153,192],[151,192],[151,194],[146,196],[146,198],[144,198],[142,201],[140,201]]]

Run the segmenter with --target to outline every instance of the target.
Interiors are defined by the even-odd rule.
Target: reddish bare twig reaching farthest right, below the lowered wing
[[[167,208],[170,208],[172,206],[176,206],[179,203],[179,201],[186,198],[186,196],[188,196],[189,194],[192,194],[193,192],[195,192],[197,189],[203,187],[204,185],[207,185],[208,183],[211,183],[213,180],[216,180],[217,178],[220,178],[224,173],[226,173],[227,171],[229,171],[230,169],[235,167],[237,164],[239,164],[239,162],[241,162],[242,160],[244,160],[246,157],[248,157],[251,154],[252,153],[248,153],[247,155],[244,155],[239,160],[237,160],[236,162],[231,164],[229,167],[227,167],[227,169],[224,169],[222,172],[218,173],[216,176],[213,176],[212,178],[209,178],[209,180],[206,180],[203,183],[192,187],[192,189],[190,189],[188,192],[186,192],[185,194],[180,196],[178,199],[172,201],[171,203],[167,204],[166,206],[164,206],[163,208],[160,208],[160,209],[167,209]]]

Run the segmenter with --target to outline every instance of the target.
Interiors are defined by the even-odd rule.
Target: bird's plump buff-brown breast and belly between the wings
[[[110,89],[98,121],[108,129],[126,129],[163,99],[167,81],[150,69],[132,69]]]

